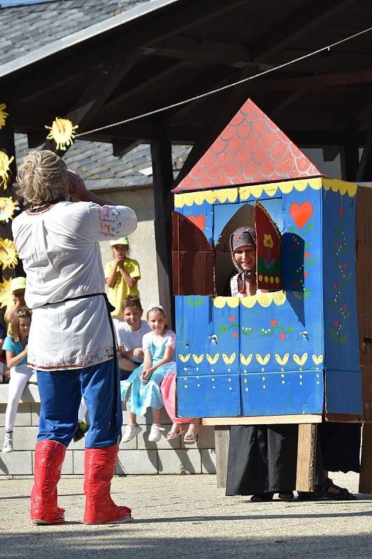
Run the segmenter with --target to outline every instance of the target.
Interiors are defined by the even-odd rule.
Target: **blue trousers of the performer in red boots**
[[[38,370],[41,402],[38,442],[50,439],[68,447],[77,427],[77,412],[83,396],[89,413],[85,447],[101,449],[119,444],[123,423],[119,375],[116,379],[116,425],[109,428],[114,395],[113,375],[113,359],[83,369]]]

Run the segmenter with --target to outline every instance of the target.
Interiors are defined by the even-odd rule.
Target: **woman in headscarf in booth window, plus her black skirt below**
[[[255,295],[256,236],[251,227],[239,227],[230,235],[232,263],[237,273],[230,278],[230,295]],[[297,425],[230,426],[226,495],[252,495],[252,501],[268,501],[279,493],[293,498],[296,485]]]

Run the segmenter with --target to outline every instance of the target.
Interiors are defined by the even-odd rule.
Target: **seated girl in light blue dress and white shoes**
[[[172,361],[176,336],[168,328],[167,317],[161,305],[154,305],[147,311],[147,323],[150,332],[142,338],[144,359],[142,365],[135,369],[127,380],[121,382],[121,398],[125,402],[128,394],[126,409],[128,411],[128,426],[122,438],[123,442],[133,439],[142,428],[137,424],[137,415],[144,415],[147,408],[154,411],[154,423],[151,426],[149,441],[157,442],[161,439],[161,382],[165,375],[176,370],[176,363]]]

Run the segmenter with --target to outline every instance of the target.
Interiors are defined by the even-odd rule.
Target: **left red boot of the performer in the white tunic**
[[[31,491],[31,521],[34,524],[62,524],[64,511],[57,506],[57,484],[61,477],[66,447],[60,442],[36,443],[34,487]]]

